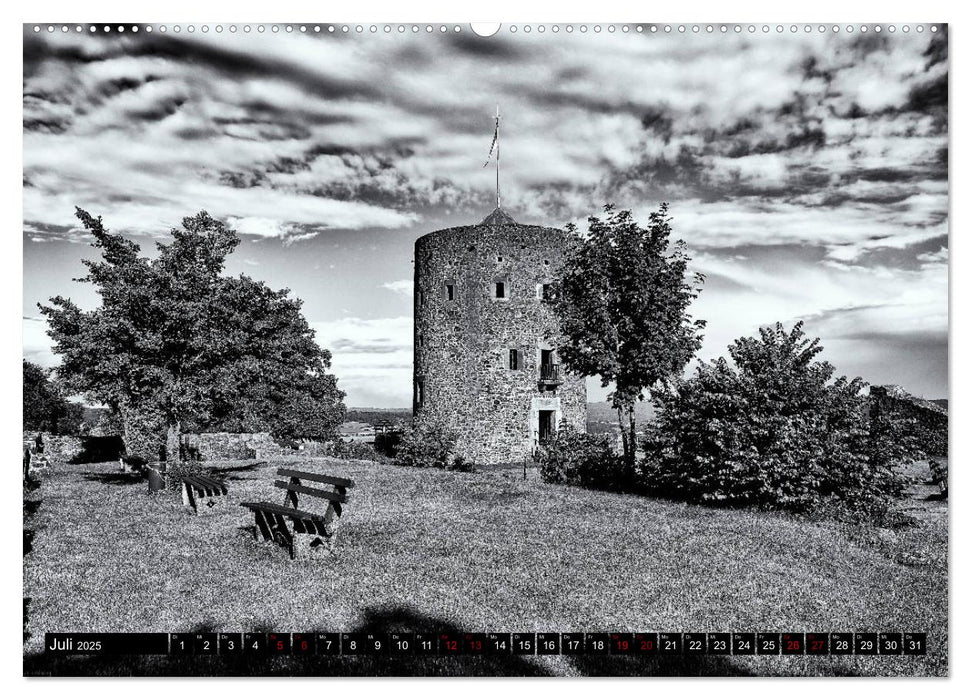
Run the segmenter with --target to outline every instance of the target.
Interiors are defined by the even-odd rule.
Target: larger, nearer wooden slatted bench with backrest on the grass
[[[264,540],[276,542],[286,549],[290,553],[291,559],[294,558],[294,536],[296,534],[312,536],[311,549],[325,545],[328,552],[333,551],[336,537],[334,519],[341,516],[342,506],[347,503],[347,489],[354,486],[354,480],[285,468],[277,469],[276,475],[289,478],[289,481],[277,480],[273,482],[274,486],[284,489],[286,492],[283,505],[265,501],[240,504],[253,511],[256,518],[256,530],[253,537],[256,537],[256,533],[259,532]],[[333,487],[333,490],[305,486],[304,481],[329,484]],[[326,500],[327,510],[324,511],[323,515],[300,510],[298,494]],[[292,532],[287,526],[287,521],[293,527]]]

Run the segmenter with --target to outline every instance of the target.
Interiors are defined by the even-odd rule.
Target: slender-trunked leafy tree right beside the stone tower
[[[623,436],[625,462],[636,453],[634,409],[645,391],[677,377],[701,347],[705,322],[688,306],[704,277],[689,275],[683,241],[673,245],[667,204],[652,212],[647,228],[629,211],[604,207],[588,219],[586,236],[572,224],[574,245],[564,263],[552,305],[565,343],[564,365],[584,376],[600,375]]]

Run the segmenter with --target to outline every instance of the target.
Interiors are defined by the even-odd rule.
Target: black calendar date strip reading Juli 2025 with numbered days
[[[923,632],[47,633],[55,656],[922,656]]]

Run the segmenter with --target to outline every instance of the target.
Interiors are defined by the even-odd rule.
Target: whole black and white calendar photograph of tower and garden
[[[948,676],[948,46],[24,24],[23,675]]]

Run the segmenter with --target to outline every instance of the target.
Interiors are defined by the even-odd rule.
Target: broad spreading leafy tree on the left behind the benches
[[[246,275],[223,276],[235,231],[206,212],[182,220],[154,259],[110,233],[101,217],[78,209],[100,260],[85,260],[78,281],[95,286],[101,305],[82,311],[54,297],[47,317],[58,376],[118,413],[129,451],[178,461],[180,435],[236,420],[277,437],[324,437],[343,420],[343,392],[328,374],[330,352],[314,342],[289,290]],[[154,444],[151,438],[154,437]]]

